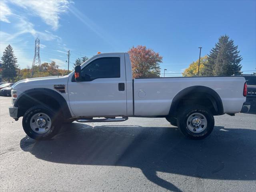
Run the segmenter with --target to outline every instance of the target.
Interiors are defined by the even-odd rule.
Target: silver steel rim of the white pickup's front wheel
[[[52,120],[45,113],[36,113],[30,119],[30,127],[34,132],[43,134],[50,131]]]

